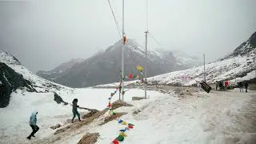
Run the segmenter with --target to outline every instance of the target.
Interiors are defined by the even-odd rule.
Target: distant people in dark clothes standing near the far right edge
[[[218,87],[219,87],[219,90],[226,90],[227,86],[229,85],[229,82],[223,82],[223,81],[216,81],[216,90],[218,90]],[[239,90],[240,92],[243,93],[243,88],[246,89],[246,93],[247,93],[247,90],[248,90],[248,82],[238,82],[238,87],[239,87]]]

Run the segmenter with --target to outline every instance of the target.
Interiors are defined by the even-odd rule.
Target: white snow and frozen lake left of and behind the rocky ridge
[[[74,91],[59,90],[56,91],[65,102],[72,103],[74,98],[78,98],[78,105],[89,107],[91,109],[103,110],[106,108],[110,93],[113,89],[75,89]],[[155,91],[149,94],[159,96]],[[144,94],[143,90],[126,91],[126,101],[131,101],[133,96]],[[160,94],[161,95],[161,94]],[[113,102],[118,99],[118,95],[113,98]],[[53,93],[30,93],[17,90],[11,94],[10,105],[0,109],[0,143],[26,143],[26,137],[30,134],[29,126],[30,114],[38,111],[38,131],[37,138],[47,138],[54,134],[50,126],[66,122],[66,119],[72,118],[72,107],[64,106],[54,102]],[[78,110],[87,112],[87,110]],[[79,139],[78,139],[79,140]]]

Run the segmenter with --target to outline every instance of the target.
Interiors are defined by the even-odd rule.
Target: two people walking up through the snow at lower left
[[[80,114],[78,113],[78,98],[74,98],[73,102],[72,102],[73,106],[72,106],[72,112],[73,112],[73,118],[71,120],[71,122],[74,122],[74,118],[77,115],[78,116],[78,120],[79,122],[81,122],[80,119]],[[33,112],[30,116],[30,127],[32,128],[32,133],[26,137],[27,139],[31,139],[31,137],[35,137],[34,134],[36,134],[39,130],[39,127],[37,126],[37,114],[38,112]]]

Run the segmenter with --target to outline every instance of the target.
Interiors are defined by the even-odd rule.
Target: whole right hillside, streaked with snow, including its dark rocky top
[[[218,62],[206,64],[206,82],[215,82],[216,80],[250,80],[256,78],[256,32],[241,46],[238,46],[234,52]],[[182,77],[189,78],[185,85],[194,84],[195,80],[203,79],[203,66],[194,67],[188,70],[174,71],[168,74],[161,74],[148,78],[150,83],[162,83],[177,85],[181,83]],[[249,74],[250,76],[246,76]]]

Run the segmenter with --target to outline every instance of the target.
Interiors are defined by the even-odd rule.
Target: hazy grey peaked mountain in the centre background
[[[128,39],[124,48],[125,73],[138,73],[136,66],[145,65],[145,50],[137,42]],[[102,83],[118,82],[122,67],[122,40],[101,50],[92,57],[74,64],[71,68],[62,71],[61,74],[42,75],[52,82],[58,82],[65,86],[85,87],[95,86]],[[154,76],[174,70],[184,70],[185,67],[178,65],[173,54],[162,57],[156,51],[148,52],[148,75]]]

